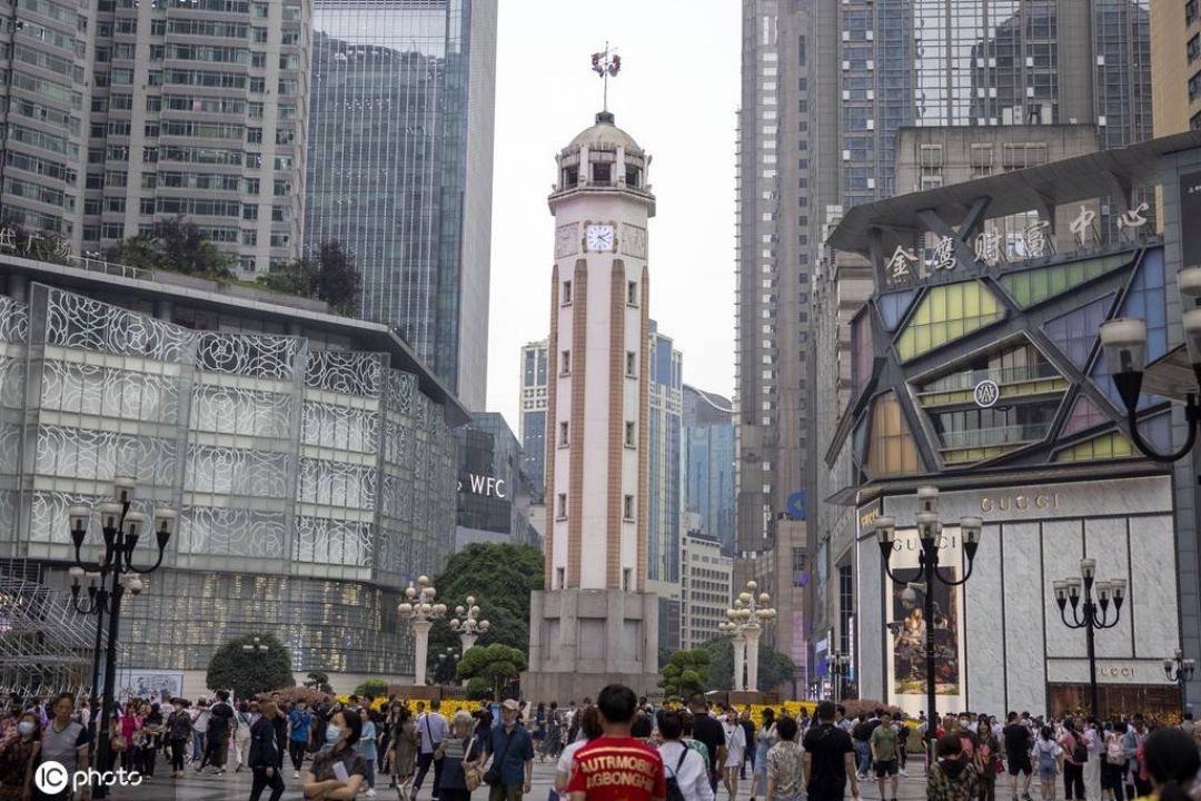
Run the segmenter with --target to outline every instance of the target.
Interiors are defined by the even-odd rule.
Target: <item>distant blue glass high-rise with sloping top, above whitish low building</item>
[[[683,385],[683,508],[734,556],[734,410],[716,393]]]

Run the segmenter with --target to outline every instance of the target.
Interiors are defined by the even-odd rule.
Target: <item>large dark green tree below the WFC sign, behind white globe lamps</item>
[[[537,548],[474,543],[447,561],[434,586],[438,600],[452,612],[466,603],[467,596],[476,598],[480,617],[489,622],[477,645],[501,642],[530,652],[530,593],[543,588],[543,556]],[[437,671],[440,653],[459,647],[459,635],[450,630],[448,621],[435,622],[430,630],[430,675]]]

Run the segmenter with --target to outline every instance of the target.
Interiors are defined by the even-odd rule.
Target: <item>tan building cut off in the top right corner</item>
[[[1201,4],[1151,0],[1155,136],[1201,128]]]

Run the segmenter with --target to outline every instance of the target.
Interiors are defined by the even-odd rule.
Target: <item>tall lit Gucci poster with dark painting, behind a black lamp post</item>
[[[885,670],[890,704],[916,716],[926,709],[926,592],[918,558],[916,530],[898,530],[892,551],[892,573],[885,594]],[[950,581],[962,576],[958,527],[948,526],[939,540],[939,574]],[[960,710],[963,697],[963,598],[960,587],[936,581],[934,687],[938,706]]]

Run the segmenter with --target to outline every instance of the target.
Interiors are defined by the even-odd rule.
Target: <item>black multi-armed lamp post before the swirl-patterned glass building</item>
[[[71,567],[71,602],[76,610],[84,615],[96,615],[96,640],[98,645],[101,620],[108,616],[108,642],[104,647],[104,693],[100,710],[100,727],[96,742],[96,766],[101,771],[110,767],[109,725],[113,716],[113,695],[116,689],[116,641],[120,634],[121,598],[126,591],[138,594],[145,585],[141,575],[153,573],[162,564],[162,556],[171,540],[175,526],[175,510],[157,508],[154,510],[155,539],[159,545],[159,557],[154,566],[139,568],[133,564],[133,551],[142,538],[147,515],[130,509],[133,502],[136,482],[132,478],[118,477],[113,480],[114,501],[97,506],[100,530],[104,538],[104,557],[98,564],[83,561],[80,554],[88,537],[88,524],[91,519],[91,507],[72,506],[67,514],[71,520],[71,542],[74,544],[74,564]],[[79,579],[85,575],[98,576],[88,582],[88,602],[79,600]],[[100,663],[97,654],[92,657],[92,695],[98,682]],[[95,713],[95,710],[94,710]],[[96,797],[108,795],[108,788],[98,783]]]

